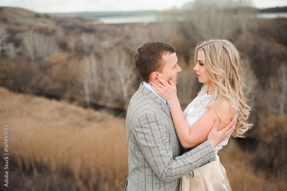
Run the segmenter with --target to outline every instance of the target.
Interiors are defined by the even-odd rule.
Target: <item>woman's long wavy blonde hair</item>
[[[237,116],[234,137],[244,137],[243,134],[249,130],[252,124],[247,123],[251,107],[246,104],[243,94],[245,87],[241,58],[236,47],[228,40],[212,39],[199,43],[195,48],[195,64],[197,63],[197,53],[202,52],[205,71],[214,86],[212,97],[206,109],[214,103],[216,113],[222,121],[218,111],[223,99],[227,99],[230,104],[231,118]],[[208,84],[204,84],[198,95],[208,92]]]

